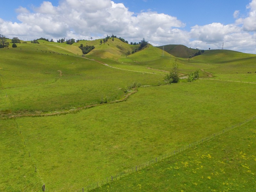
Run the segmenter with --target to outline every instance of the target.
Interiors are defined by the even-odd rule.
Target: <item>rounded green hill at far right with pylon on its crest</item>
[[[255,54],[230,50],[208,50],[203,55],[193,57],[189,62],[195,65],[197,63],[208,65],[209,67],[204,68],[204,70],[217,79],[256,82]],[[251,74],[248,74],[248,72],[251,72]]]

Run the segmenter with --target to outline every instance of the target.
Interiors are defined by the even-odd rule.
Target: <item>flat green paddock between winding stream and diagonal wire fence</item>
[[[14,132],[11,142],[24,155],[13,164],[30,153],[34,164],[23,171],[34,173],[37,167],[38,175],[27,179],[39,177],[50,191],[76,190],[255,115],[256,106],[246,99],[253,95],[253,84],[207,80],[140,88],[125,102],[76,114],[1,121],[1,132],[7,134],[2,144],[8,145]]]

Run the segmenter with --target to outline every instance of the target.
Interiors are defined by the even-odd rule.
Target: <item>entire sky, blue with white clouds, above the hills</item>
[[[12,0],[1,3],[9,38],[102,38],[256,53],[256,0]]]

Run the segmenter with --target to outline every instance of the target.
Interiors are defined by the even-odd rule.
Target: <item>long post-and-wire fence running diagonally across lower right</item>
[[[112,182],[114,180],[119,180],[120,178],[124,177],[125,175],[129,175],[129,174],[131,174],[133,172],[137,172],[137,171],[143,169],[144,167],[150,166],[150,164],[157,163],[158,161],[161,161],[161,160],[163,160],[165,158],[168,158],[170,156],[173,156],[173,155],[176,155],[178,153],[181,153],[182,151],[184,151],[184,150],[186,150],[188,148],[192,148],[192,147],[195,147],[196,145],[199,145],[199,144],[202,144],[202,143],[204,143],[206,141],[212,140],[215,137],[217,137],[217,136],[219,136],[219,135],[221,135],[223,133],[226,133],[228,131],[231,131],[231,130],[237,128],[237,127],[240,127],[241,125],[244,125],[244,124],[246,124],[246,123],[248,123],[248,122],[250,122],[250,121],[252,121],[254,119],[256,119],[256,116],[253,116],[252,118],[246,119],[246,120],[244,120],[241,123],[232,125],[231,127],[225,128],[225,129],[223,129],[223,130],[221,130],[219,132],[213,133],[213,134],[211,134],[208,137],[205,137],[205,138],[203,138],[201,140],[197,140],[197,141],[195,141],[193,143],[190,143],[190,144],[188,144],[188,145],[186,145],[184,147],[176,148],[176,149],[172,150],[170,153],[167,153],[167,154],[164,154],[164,155],[161,155],[161,156],[157,156],[154,159],[148,160],[148,161],[146,161],[143,164],[136,165],[135,167],[132,167],[132,168],[130,168],[130,169],[126,170],[126,171],[123,171],[123,172],[121,172],[119,174],[114,174],[114,175],[111,175],[109,177],[106,177],[105,179],[102,179],[100,181],[94,182],[91,185],[88,185],[86,188],[82,188],[81,191],[84,192],[84,189],[86,191],[90,191],[92,189],[95,189],[95,188],[101,187],[101,186],[103,186],[105,184],[108,184],[108,183],[110,183],[110,182]]]

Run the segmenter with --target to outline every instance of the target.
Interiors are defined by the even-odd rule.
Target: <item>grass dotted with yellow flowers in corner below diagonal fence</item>
[[[93,191],[255,191],[256,122]]]

